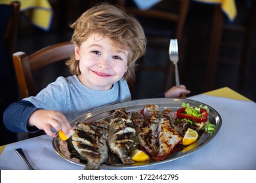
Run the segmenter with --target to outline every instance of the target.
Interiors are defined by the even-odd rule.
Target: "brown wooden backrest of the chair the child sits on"
[[[72,52],[74,52],[73,43],[61,42],[38,50],[30,56],[24,52],[14,53],[12,59],[20,90],[20,97],[23,99],[37,94],[33,78],[35,71],[51,63],[69,59]]]

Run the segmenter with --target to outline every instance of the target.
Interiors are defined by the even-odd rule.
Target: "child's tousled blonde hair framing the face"
[[[71,41],[78,47],[91,34],[97,33],[102,37],[109,37],[116,46],[129,51],[128,69],[123,78],[134,80],[135,62],[146,51],[146,37],[136,18],[129,16],[121,8],[102,3],[84,12],[70,27],[74,29]],[[75,54],[71,56],[66,64],[70,67],[72,75],[81,74],[79,60],[75,59]]]

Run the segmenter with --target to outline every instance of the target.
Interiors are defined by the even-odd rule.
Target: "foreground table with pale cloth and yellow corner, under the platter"
[[[192,154],[169,163],[152,165],[146,169],[256,169],[256,103],[234,92],[220,88],[189,97],[217,110],[223,124],[219,133],[205,146]],[[47,135],[1,146],[1,169],[26,169],[15,154],[15,148],[23,148],[35,169],[77,169],[54,152],[52,138]],[[140,168],[137,168],[140,169]]]

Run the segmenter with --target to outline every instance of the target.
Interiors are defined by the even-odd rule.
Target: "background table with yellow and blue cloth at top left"
[[[1,4],[10,4],[13,0],[1,0]],[[53,8],[48,0],[19,0],[20,12],[32,22],[35,27],[49,31],[53,19]]]

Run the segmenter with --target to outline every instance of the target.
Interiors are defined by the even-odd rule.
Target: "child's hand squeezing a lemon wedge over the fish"
[[[51,131],[51,127],[54,127],[56,131],[62,130],[65,135],[68,135],[72,131],[72,127],[66,116],[56,110],[35,110],[28,119],[28,126],[35,126],[38,129],[42,129],[51,137],[55,136],[55,133]]]

